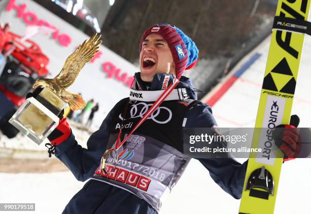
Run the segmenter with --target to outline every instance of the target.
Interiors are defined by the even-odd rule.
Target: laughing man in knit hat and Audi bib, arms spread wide
[[[119,101],[87,149],[78,145],[66,119],[49,136],[55,156],[78,180],[89,179],[63,213],[157,213],[190,157],[183,128],[216,126],[208,105],[197,101],[184,70],[195,66],[198,49],[169,24],[147,29],[140,41],[140,71],[130,97]],[[55,147],[56,146],[56,147]],[[247,162],[198,159],[212,179],[240,198]]]

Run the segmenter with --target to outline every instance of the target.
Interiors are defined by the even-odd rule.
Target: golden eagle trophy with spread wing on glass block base
[[[26,99],[9,122],[39,145],[57,127],[67,103],[73,111],[83,109],[85,102],[81,96],[66,89],[99,51],[100,38],[101,35],[95,34],[79,45],[53,79],[38,79],[33,85],[37,88],[33,96]]]

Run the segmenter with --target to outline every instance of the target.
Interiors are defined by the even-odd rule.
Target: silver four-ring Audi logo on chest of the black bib
[[[145,113],[148,111],[150,106],[152,106],[152,103],[146,104],[146,103],[141,102],[141,103],[133,104],[130,110],[130,118],[137,118],[137,117],[142,118],[145,115]],[[159,118],[160,115],[161,115],[161,118],[164,118],[164,119],[160,120]],[[119,118],[123,120],[121,114],[119,114]],[[161,106],[161,107],[158,107],[155,111],[153,111],[147,119],[152,119],[155,123],[158,123],[158,124],[167,124],[172,119],[172,111],[167,107]]]

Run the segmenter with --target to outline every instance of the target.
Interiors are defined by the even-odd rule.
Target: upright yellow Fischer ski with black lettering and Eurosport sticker
[[[295,86],[298,76],[304,34],[304,25],[295,24],[307,20],[311,0],[279,0],[278,17],[288,17],[275,24],[291,29],[273,29],[267,65],[261,90],[252,147],[262,148],[260,154],[251,154],[239,213],[271,214],[274,212],[279,175],[283,163],[282,151],[275,148],[270,133],[279,124],[289,124]],[[296,20],[294,20],[296,19]],[[292,20],[292,21],[291,21]]]

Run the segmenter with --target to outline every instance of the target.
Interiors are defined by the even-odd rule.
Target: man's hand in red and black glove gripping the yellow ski
[[[297,130],[299,121],[297,115],[292,115],[290,125],[279,125],[272,133],[275,145],[284,153],[284,161],[295,159],[301,150],[301,138]]]

